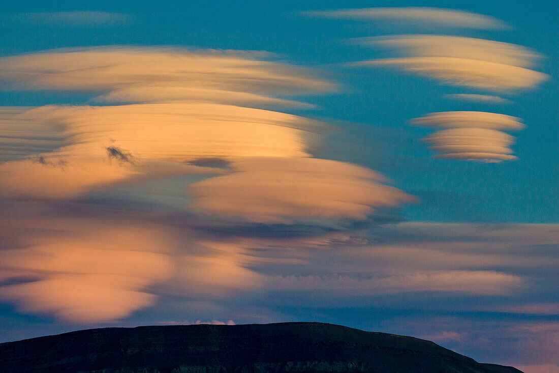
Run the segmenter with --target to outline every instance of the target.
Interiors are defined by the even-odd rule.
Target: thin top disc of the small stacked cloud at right
[[[525,125],[520,118],[485,111],[442,111],[411,120],[412,124],[433,128],[485,128],[519,130]]]

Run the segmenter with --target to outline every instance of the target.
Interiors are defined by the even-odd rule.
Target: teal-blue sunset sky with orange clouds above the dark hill
[[[320,321],[559,371],[554,1],[0,5],[0,342]]]

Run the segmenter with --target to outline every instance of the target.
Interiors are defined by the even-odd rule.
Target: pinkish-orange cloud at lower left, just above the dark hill
[[[160,297],[215,303],[266,283],[247,268],[254,264],[247,250],[187,220],[68,202],[3,207],[0,299],[22,313],[98,323]]]

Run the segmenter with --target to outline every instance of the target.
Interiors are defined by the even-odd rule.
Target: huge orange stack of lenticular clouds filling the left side
[[[89,95],[88,105],[0,107],[0,236],[10,249],[0,250],[0,299],[100,321],[153,304],[162,282],[184,297],[248,290],[265,282],[246,268],[253,255],[197,224],[324,226],[411,201],[372,170],[314,158],[325,124],[274,108],[309,107],[284,97],[335,86],[267,57],[93,48],[0,58],[3,90]],[[189,186],[187,174],[207,179]],[[195,218],[176,224],[195,227],[126,204],[90,216],[95,193],[163,177],[192,197],[173,208]],[[73,215],[73,203],[87,213]]]

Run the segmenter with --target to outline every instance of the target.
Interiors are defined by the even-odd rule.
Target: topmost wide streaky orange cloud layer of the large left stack
[[[0,58],[3,89],[103,92],[100,102],[300,105],[274,96],[334,89],[262,52],[169,48],[65,49]]]

